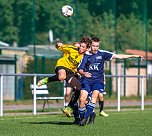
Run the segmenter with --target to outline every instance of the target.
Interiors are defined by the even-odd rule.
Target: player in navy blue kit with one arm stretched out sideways
[[[100,40],[97,37],[92,38],[91,49],[89,53],[83,56],[79,64],[78,71],[82,75],[82,84],[80,92],[79,114],[82,120],[80,126],[85,126],[88,117],[96,106],[96,100],[99,93],[104,91],[104,62],[112,59],[141,58],[140,55],[113,54],[109,51],[99,50]],[[92,98],[85,107],[85,101],[88,93],[92,92]],[[84,112],[86,111],[86,112]]]

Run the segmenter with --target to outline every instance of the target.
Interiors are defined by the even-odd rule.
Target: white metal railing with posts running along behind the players
[[[4,76],[31,76],[33,77],[33,84],[36,85],[37,77],[38,76],[52,76],[54,74],[0,74],[0,116],[3,116],[3,78]],[[120,79],[127,77],[127,78],[140,78],[140,92],[141,92],[141,110],[144,110],[144,94],[145,94],[145,86],[144,86],[144,79],[152,78],[152,76],[125,76],[125,75],[106,75],[109,78],[116,78],[117,79],[117,111],[120,111],[120,86],[121,82]],[[33,114],[36,115],[36,88],[34,87],[34,94],[33,94]]]

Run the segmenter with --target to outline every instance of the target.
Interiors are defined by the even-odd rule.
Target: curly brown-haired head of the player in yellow
[[[79,53],[83,54],[90,47],[92,41],[90,36],[83,36],[80,40]]]

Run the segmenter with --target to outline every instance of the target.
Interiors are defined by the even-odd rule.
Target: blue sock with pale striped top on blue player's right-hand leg
[[[94,108],[95,108],[96,104],[95,103],[92,103],[92,102],[89,102],[88,105],[87,105],[87,110],[86,110],[86,113],[84,115],[84,118],[88,119],[89,116],[92,114]]]

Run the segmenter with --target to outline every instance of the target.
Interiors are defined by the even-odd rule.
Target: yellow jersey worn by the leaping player
[[[78,68],[80,61],[82,60],[83,54],[78,53],[78,48],[73,45],[63,45],[58,48],[59,51],[63,52],[63,57],[57,61],[55,66],[63,66],[75,72]]]

